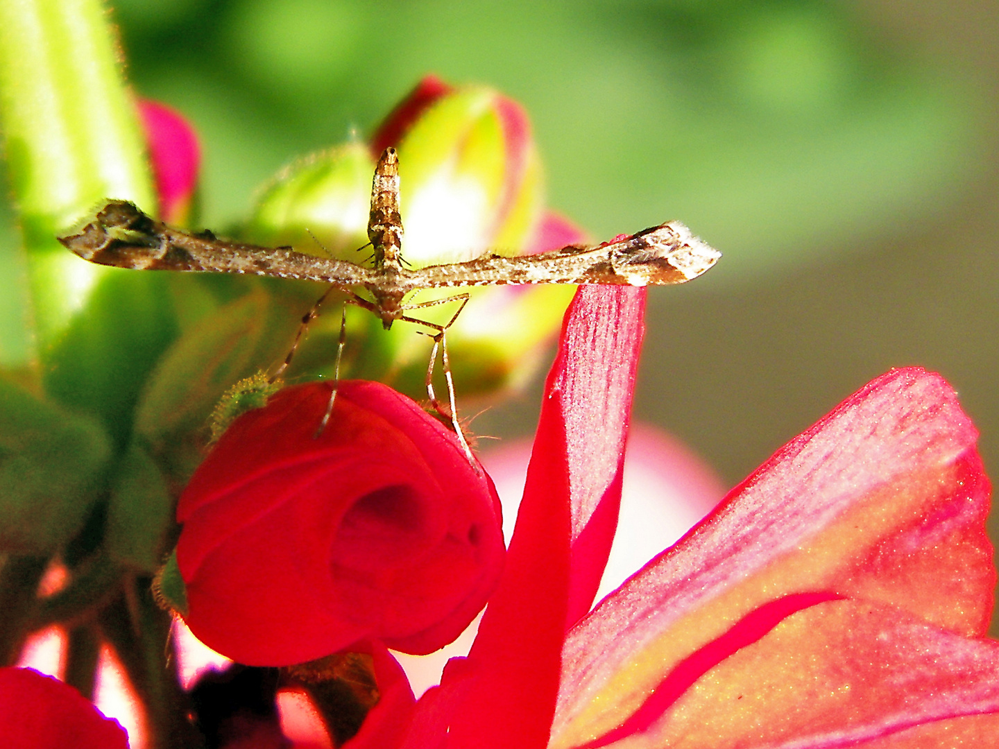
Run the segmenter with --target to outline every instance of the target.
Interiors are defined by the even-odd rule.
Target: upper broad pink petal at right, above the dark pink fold
[[[938,375],[861,389],[570,632],[556,732],[584,743],[571,737],[620,725],[684,658],[791,593],[870,596],[980,631],[994,573],[975,437]]]

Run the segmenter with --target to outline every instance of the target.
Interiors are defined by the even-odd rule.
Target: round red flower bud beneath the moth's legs
[[[377,638],[423,654],[486,604],[500,503],[454,433],[367,381],[289,387],[241,416],[181,497],[192,632],[242,663],[288,665]]]

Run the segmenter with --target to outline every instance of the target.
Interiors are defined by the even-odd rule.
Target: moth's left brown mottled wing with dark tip
[[[79,234],[59,241],[84,260],[117,268],[275,276],[322,281],[344,290],[376,280],[370,269],[346,261],[171,229],[125,201],[109,202]]]

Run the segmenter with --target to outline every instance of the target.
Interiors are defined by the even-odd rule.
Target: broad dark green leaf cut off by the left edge
[[[99,423],[0,379],[0,548],[49,551],[69,540],[111,453]]]

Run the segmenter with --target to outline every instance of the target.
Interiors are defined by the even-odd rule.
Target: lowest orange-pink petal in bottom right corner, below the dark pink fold
[[[626,745],[866,746],[913,726],[999,711],[997,675],[999,643],[888,606],[829,601],[792,614],[709,670]],[[981,746],[996,744],[995,729],[975,729],[991,731]]]

